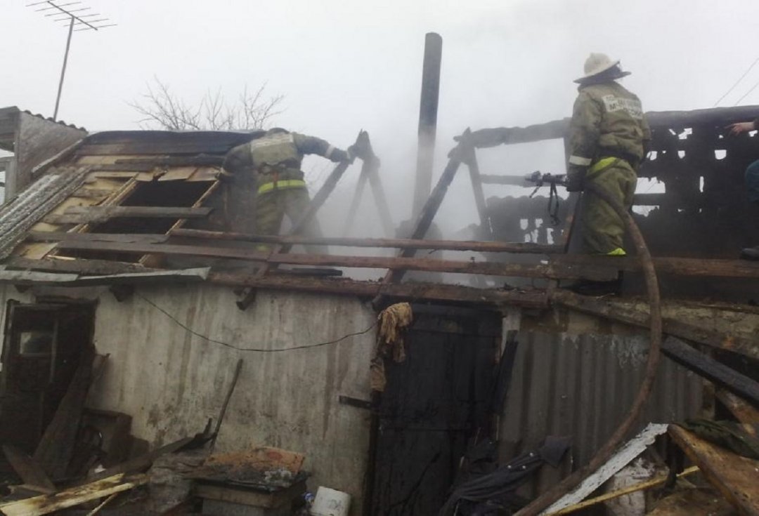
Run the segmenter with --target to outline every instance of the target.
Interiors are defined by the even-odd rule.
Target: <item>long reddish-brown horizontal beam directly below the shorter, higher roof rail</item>
[[[452,261],[435,258],[270,254],[267,252],[257,252],[253,249],[233,249],[200,245],[142,244],[138,242],[77,242],[64,240],[58,244],[58,249],[112,251],[136,255],[202,256],[206,258],[259,261],[268,264],[298,264],[317,267],[398,268],[410,271],[488,274],[504,277],[562,279],[590,277],[597,280],[609,280],[610,277],[616,277],[616,270],[609,270],[608,268],[606,270],[601,268],[581,268],[573,265],[554,267],[550,264],[529,265],[495,261]]]

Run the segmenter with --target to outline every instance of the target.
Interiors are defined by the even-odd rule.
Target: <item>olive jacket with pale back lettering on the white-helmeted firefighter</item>
[[[637,168],[651,138],[638,96],[614,81],[584,84],[579,92],[569,124],[569,164],[588,167],[616,157]]]

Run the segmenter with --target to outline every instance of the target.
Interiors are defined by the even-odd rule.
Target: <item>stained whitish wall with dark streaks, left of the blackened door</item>
[[[2,301],[30,301],[11,286],[2,291]],[[350,493],[351,514],[359,514],[369,414],[338,396],[369,398],[373,329],[311,349],[241,352],[181,325],[232,346],[274,350],[367,330],[375,317],[370,308],[345,296],[258,292],[240,311],[231,289],[209,285],[139,287],[121,303],[104,289],[77,296],[98,299],[96,349],[110,355],[90,406],[131,414],[132,433],[159,446],[202,431],[209,417],[216,422],[242,358],[216,451],[255,444],[303,452],[310,488]]]

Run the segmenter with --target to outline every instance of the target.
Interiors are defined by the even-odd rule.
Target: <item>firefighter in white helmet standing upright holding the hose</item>
[[[567,190],[580,192],[587,183],[613,195],[631,208],[638,167],[651,139],[641,101],[616,82],[623,72],[619,61],[591,54],[579,83],[569,124]],[[584,252],[623,256],[625,223],[593,192],[585,192],[581,214]]]

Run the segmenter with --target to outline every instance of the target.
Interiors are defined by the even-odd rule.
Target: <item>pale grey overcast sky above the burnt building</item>
[[[67,31],[26,7],[33,1],[2,0],[11,52],[3,55],[0,105],[50,116]],[[244,85],[266,82],[272,94],[286,95],[277,125],[342,147],[368,130],[394,199],[413,189],[427,32],[443,38],[438,174],[452,136],[468,126],[569,116],[572,80],[589,52],[622,59],[632,72],[624,84],[648,111],[710,108],[759,57],[756,0],[83,3],[118,26],[74,33],[62,120],[88,130],[137,129],[140,116],[128,102],[154,76],[189,101],[217,88],[234,98]],[[759,66],[722,105],[733,105],[757,81]],[[742,102],[754,103],[759,88]],[[548,170],[561,151],[547,149],[487,151],[483,163],[517,167],[516,174]],[[509,161],[509,152],[521,154]],[[452,192],[467,195],[469,206],[463,177]],[[456,206],[446,206],[442,217],[456,217]],[[394,208],[397,219],[408,216],[408,202]]]

